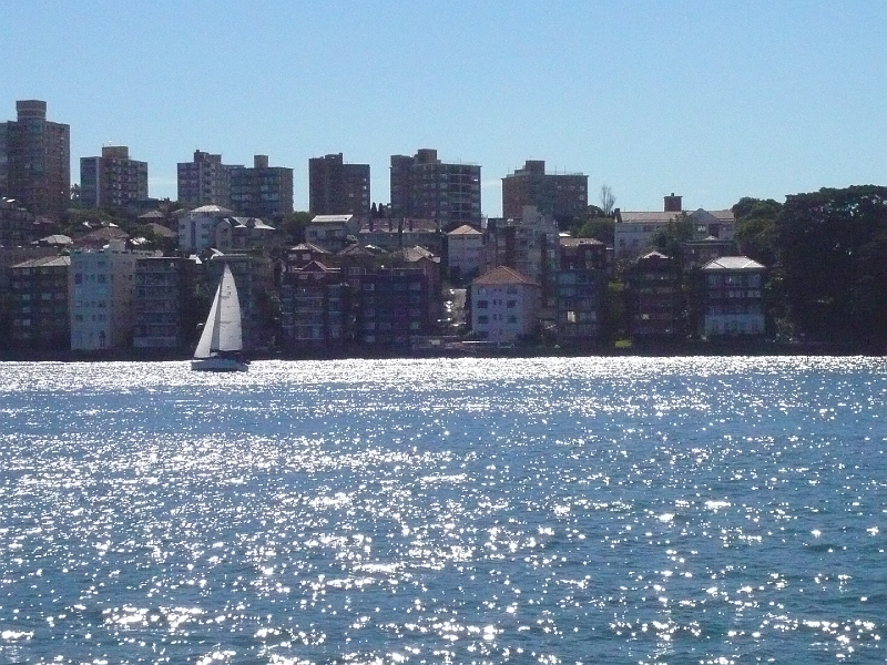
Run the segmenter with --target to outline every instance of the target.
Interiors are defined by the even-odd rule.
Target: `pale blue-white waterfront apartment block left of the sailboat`
[[[72,350],[94,351],[132,345],[135,264],[153,255],[130,252],[124,241],[111,241],[99,252],[71,254]]]

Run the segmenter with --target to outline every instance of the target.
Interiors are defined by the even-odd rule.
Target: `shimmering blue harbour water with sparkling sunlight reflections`
[[[887,361],[0,365],[0,662],[871,663]]]

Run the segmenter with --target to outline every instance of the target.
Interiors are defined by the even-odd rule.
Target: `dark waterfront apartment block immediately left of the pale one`
[[[33,349],[69,347],[70,266],[71,258],[68,256],[44,256],[10,268],[13,345]]]

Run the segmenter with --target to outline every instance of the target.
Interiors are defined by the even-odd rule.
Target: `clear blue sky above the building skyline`
[[[391,154],[527,158],[623,209],[887,184],[887,2],[7,0],[0,119],[42,99],[79,158],[109,142],[175,197],[195,149],[295,170],[343,152],[388,202]]]

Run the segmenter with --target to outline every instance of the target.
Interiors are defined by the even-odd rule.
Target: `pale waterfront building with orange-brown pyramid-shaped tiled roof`
[[[471,330],[486,341],[513,344],[539,327],[540,287],[507,266],[471,283]]]

